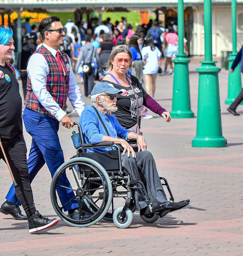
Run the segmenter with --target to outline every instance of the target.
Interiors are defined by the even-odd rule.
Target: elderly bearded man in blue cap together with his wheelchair
[[[114,223],[120,228],[125,228],[131,224],[133,219],[131,210],[134,211],[135,208],[140,211],[143,220],[152,223],[159,217],[189,204],[189,200],[174,202],[166,179],[159,177],[155,160],[152,154],[146,150],[147,144],[144,137],[123,128],[118,123],[117,118],[108,113],[117,110],[117,93],[122,93],[122,91],[114,88],[110,83],[98,83],[93,88],[91,93],[92,105],[87,105],[84,108],[79,121],[81,127],[78,124],[79,133],[81,133],[81,147],[77,151],[77,156],[70,159],[69,163],[64,163],[52,180],[51,200],[54,209],[60,218],[73,226],[89,226],[101,218],[110,220],[113,215]],[[130,140],[133,143],[136,141],[137,153],[129,144]],[[114,150],[116,148],[117,150]],[[118,173],[113,171],[113,167],[110,167],[115,160],[112,156],[112,153],[115,154],[114,152],[118,152],[118,165],[120,165]],[[103,155],[99,160],[97,155],[101,154]],[[108,154],[111,158],[104,158]],[[97,162],[106,170],[103,170],[103,167]],[[79,218],[77,220],[68,218],[63,213],[64,206],[59,207],[56,200],[55,190],[60,186],[58,177],[63,174],[66,175],[67,168],[71,169],[73,174],[75,173],[74,169],[78,172],[78,178],[75,178],[78,188],[73,189],[76,191],[75,196],[79,201],[79,208],[77,209]],[[102,173],[98,172],[97,169]],[[108,177],[107,173],[109,173]],[[81,185],[79,185],[78,179],[81,180]],[[160,179],[163,179],[165,184],[162,184]],[[122,180],[125,180],[125,183],[122,183]],[[127,189],[126,195],[124,192],[116,190],[119,184]],[[172,202],[167,200],[163,185],[166,185]],[[117,210],[113,211],[112,203],[111,214],[107,213],[112,201],[111,197],[127,197],[128,199],[126,199],[124,207],[117,209],[118,212]],[[101,212],[102,214],[99,214]],[[125,224],[126,222],[128,225]]]

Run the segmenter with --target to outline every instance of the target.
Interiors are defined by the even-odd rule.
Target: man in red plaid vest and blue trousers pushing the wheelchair
[[[27,160],[30,182],[45,163],[51,177],[64,163],[57,132],[59,122],[68,129],[74,125],[71,118],[64,112],[67,97],[79,116],[84,108],[70,59],[59,50],[64,44],[65,30],[58,17],[44,18],[39,25],[43,45],[31,55],[27,64],[28,81],[23,121],[26,131],[32,137]],[[63,186],[71,188],[65,175],[62,182]],[[74,198],[74,193],[70,191],[70,189],[59,188],[58,194],[62,205]],[[10,188],[6,199],[16,205],[19,204],[13,187]],[[65,205],[64,211],[68,211],[70,218],[78,218],[77,200],[71,200]]]

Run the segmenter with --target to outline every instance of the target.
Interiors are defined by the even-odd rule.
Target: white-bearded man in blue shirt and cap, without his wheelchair
[[[107,82],[98,83],[93,88],[91,92],[92,106],[88,105],[84,108],[79,120],[85,143],[114,142],[115,144],[121,145],[124,148],[121,153],[122,166],[125,172],[131,176],[131,180],[141,180],[144,183],[152,207],[159,204],[171,206],[171,208],[161,209],[158,212],[160,217],[171,211],[185,207],[188,205],[187,201],[178,203],[168,202],[164,188],[160,182],[153,155],[146,150],[147,144],[144,137],[123,128],[113,114],[108,114],[108,112],[114,113],[117,110],[116,102],[118,93],[122,93],[122,91],[114,88],[111,83]],[[100,118],[107,128],[107,132]],[[134,152],[126,140],[137,141],[137,153]],[[87,151],[101,153],[111,149],[93,148]],[[140,184],[134,184],[134,187],[140,187]],[[141,215],[150,213],[150,208],[146,203],[141,188],[134,189],[133,199],[136,203],[136,209],[140,211]]]

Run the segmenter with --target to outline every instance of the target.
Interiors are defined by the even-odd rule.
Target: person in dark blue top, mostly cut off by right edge
[[[230,73],[234,72],[234,69],[240,63],[240,61],[241,61],[241,72],[243,73],[243,54],[242,54],[243,49],[242,48],[243,46],[241,47],[241,50],[239,51],[239,53],[236,55],[236,58],[231,66]],[[240,114],[236,112],[236,108],[238,107],[238,105],[241,103],[242,100],[243,100],[243,89],[241,90],[239,95],[236,97],[234,102],[229,106],[229,108],[227,108],[227,110],[232,115],[239,116]]]

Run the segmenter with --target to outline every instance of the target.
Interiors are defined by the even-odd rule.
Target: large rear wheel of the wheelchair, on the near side
[[[63,180],[66,181],[67,178],[70,186],[63,185]],[[98,188],[90,189],[91,184]],[[61,204],[62,198],[58,197],[58,191],[61,189],[65,189],[66,193],[71,195],[71,199],[64,205]],[[74,227],[88,227],[106,215],[112,201],[112,184],[106,170],[99,163],[89,158],[77,157],[68,160],[57,169],[52,178],[50,197],[55,212],[64,222]],[[93,205],[95,211],[90,213],[82,210],[83,199],[89,205]],[[71,204],[79,207],[78,219],[68,216],[67,209],[70,209]],[[84,214],[88,216],[82,219]]]

